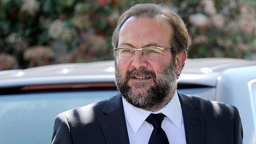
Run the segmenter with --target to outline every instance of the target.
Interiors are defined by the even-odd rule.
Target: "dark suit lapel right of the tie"
[[[178,95],[183,111],[187,144],[205,143],[205,124],[199,105],[187,95]]]

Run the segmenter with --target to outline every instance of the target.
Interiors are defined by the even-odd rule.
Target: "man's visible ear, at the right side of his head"
[[[186,59],[187,59],[187,52],[185,52],[185,50],[183,52],[177,53],[176,59],[175,59],[177,75],[180,75],[181,69],[183,68],[183,65],[184,65]]]

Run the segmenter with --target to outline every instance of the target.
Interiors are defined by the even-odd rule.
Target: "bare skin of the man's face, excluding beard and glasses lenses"
[[[119,47],[170,47],[172,27],[165,18],[135,18],[130,17],[121,27],[119,33]],[[146,69],[156,74],[159,79],[162,68],[170,65],[172,61],[171,52],[164,51],[162,57],[147,59],[141,52],[135,52],[135,56],[130,59],[116,58],[116,64],[120,68],[121,75],[126,75],[127,71],[133,69]],[[153,85],[150,75],[132,75],[128,81],[129,86],[136,82],[147,82],[148,86]]]

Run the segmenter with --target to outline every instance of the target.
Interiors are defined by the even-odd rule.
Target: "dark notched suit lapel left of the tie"
[[[110,100],[103,109],[106,115],[99,117],[101,129],[103,130],[107,143],[129,143],[129,137],[124,117],[123,102],[120,95]]]

